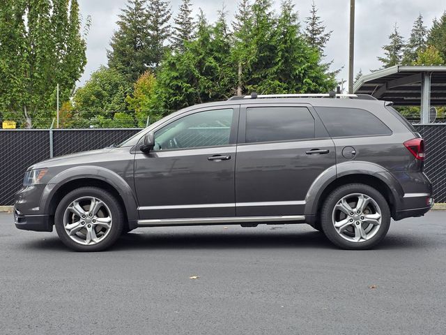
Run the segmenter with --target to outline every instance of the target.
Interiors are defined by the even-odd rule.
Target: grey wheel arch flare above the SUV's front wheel
[[[51,199],[54,197],[59,188],[70,181],[85,178],[105,181],[107,184],[115,188],[123,199],[129,223],[136,222],[138,220],[138,205],[132,188],[130,188],[128,183],[119,174],[100,166],[76,166],[56,174],[56,176],[54,176],[48,182],[45,190],[43,191],[43,195],[40,200],[40,208],[44,209],[44,213],[49,213]]]

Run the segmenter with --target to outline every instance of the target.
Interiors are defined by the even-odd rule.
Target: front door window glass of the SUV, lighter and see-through
[[[187,115],[155,132],[155,150],[213,147],[229,144],[233,109]]]

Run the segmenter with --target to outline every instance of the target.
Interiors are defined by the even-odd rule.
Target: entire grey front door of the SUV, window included
[[[140,219],[236,216],[238,107],[196,110],[155,129],[155,150],[138,152]]]

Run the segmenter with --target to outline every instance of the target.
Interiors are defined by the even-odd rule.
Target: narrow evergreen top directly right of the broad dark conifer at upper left
[[[149,0],[147,16],[152,64],[154,68],[157,68],[166,50],[164,43],[171,34],[171,26],[169,24],[172,16],[170,2],[168,0]]]

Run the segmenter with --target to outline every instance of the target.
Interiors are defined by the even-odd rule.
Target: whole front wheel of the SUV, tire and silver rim
[[[114,195],[102,188],[82,187],[68,193],[54,216],[59,238],[75,251],[102,251],[123,231],[123,211]]]

